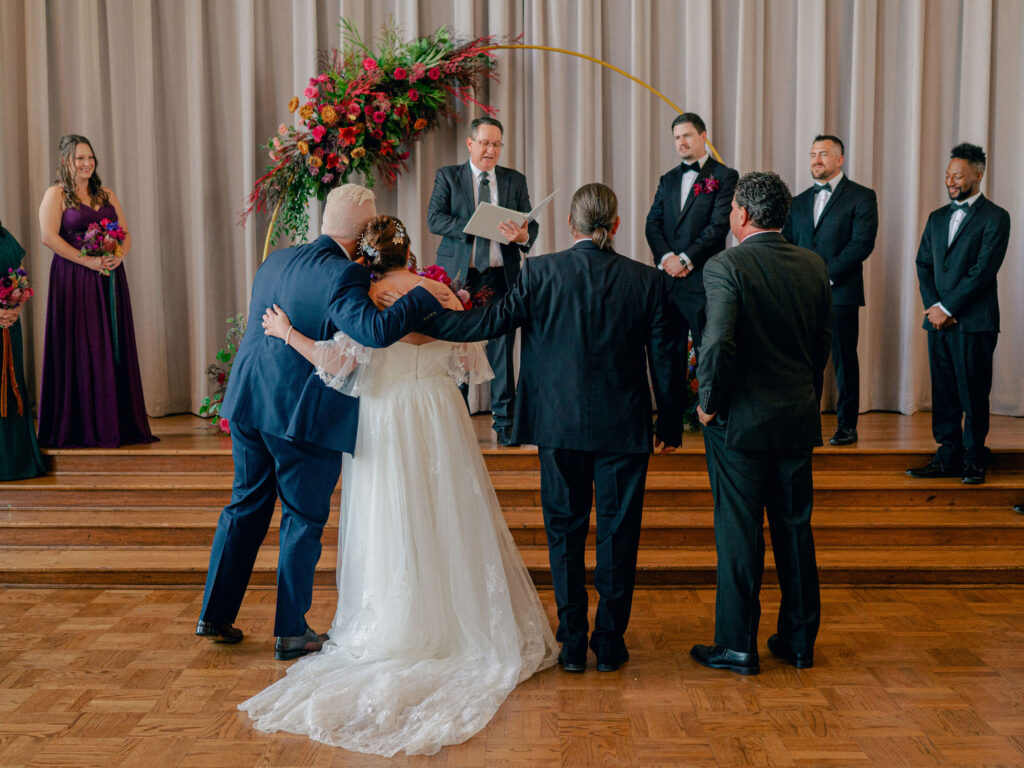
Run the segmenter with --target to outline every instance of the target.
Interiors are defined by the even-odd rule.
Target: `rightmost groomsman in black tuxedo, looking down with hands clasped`
[[[948,206],[933,211],[918,249],[938,451],[912,477],[985,481],[988,393],[999,334],[995,274],[1007,254],[1010,214],[981,194],[985,153],[957,144],[946,168]],[[962,425],[963,420],[963,425]]]

